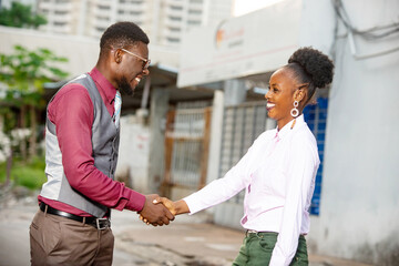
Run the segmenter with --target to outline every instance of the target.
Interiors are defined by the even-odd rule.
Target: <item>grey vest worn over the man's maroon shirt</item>
[[[70,83],[82,84],[90,94],[94,106],[94,120],[92,125],[94,165],[103,174],[113,180],[117,162],[120,131],[113,123],[100,92],[89,74],[80,75],[68,84]],[[62,88],[60,90],[62,90]],[[103,217],[108,211],[106,206],[91,201],[70,186],[63,171],[62,154],[55,132],[55,125],[47,117],[45,175],[48,182],[43,184],[40,195],[50,200],[66,203],[95,217]],[[95,186],[95,184],[93,185]]]

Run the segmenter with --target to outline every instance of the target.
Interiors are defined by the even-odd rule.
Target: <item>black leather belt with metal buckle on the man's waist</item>
[[[50,207],[49,205],[44,204],[44,203],[40,203],[40,209],[43,213],[48,213],[48,214],[53,214],[53,215],[58,215],[61,217],[65,217],[65,218],[70,218],[80,223],[84,223],[88,225],[93,226],[96,229],[105,229],[108,227],[111,227],[111,221],[109,218],[96,218],[96,217],[82,217],[79,215],[74,215],[74,214],[70,214],[70,213],[65,213],[62,211],[59,211],[57,208]]]

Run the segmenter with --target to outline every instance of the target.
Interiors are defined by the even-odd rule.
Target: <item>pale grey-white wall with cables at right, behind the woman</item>
[[[397,0],[345,0],[344,7],[358,30],[398,23]],[[335,19],[331,1],[304,1],[300,44],[330,51]],[[399,33],[378,41],[357,35],[356,53],[342,24],[338,34],[320,215],[311,218],[309,247],[318,254],[398,265],[392,259],[399,250],[399,51],[356,57],[399,48]]]

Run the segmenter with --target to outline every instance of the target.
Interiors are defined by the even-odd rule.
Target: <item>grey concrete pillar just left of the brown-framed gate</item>
[[[168,111],[170,92],[166,89],[155,88],[151,92],[150,112],[150,193],[158,193],[164,175],[165,156],[165,122]]]

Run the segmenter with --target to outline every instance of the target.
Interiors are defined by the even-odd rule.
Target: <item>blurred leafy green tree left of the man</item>
[[[65,58],[57,57],[48,49],[28,49],[16,45],[13,54],[0,53],[0,82],[7,90],[0,99],[0,113],[18,108],[20,129],[30,126],[29,157],[37,154],[37,112],[45,106],[43,99],[43,84],[54,82],[68,76],[68,73],[57,65],[66,62]],[[1,109],[3,110],[1,112]],[[8,112],[12,113],[12,112]],[[16,124],[6,124],[6,133],[10,133]],[[22,158],[27,158],[27,143],[20,142]]]

